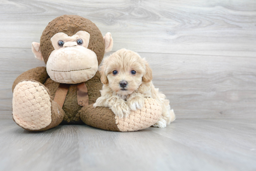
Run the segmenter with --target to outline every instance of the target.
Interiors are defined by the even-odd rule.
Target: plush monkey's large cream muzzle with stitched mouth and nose
[[[67,84],[91,79],[98,70],[97,55],[90,49],[78,46],[76,42],[66,43],[49,56],[46,68],[50,78]]]

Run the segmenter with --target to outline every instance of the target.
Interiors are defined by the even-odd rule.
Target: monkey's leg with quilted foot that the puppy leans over
[[[153,98],[146,98],[142,110],[131,111],[127,118],[116,117],[108,107],[84,106],[79,116],[85,124],[110,131],[138,131],[155,124],[162,116],[161,105]]]

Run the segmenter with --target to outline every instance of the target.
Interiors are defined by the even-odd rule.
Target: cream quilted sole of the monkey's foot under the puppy
[[[162,115],[160,104],[153,98],[145,98],[142,110],[131,111],[127,118],[115,117],[121,132],[138,131],[155,124]]]

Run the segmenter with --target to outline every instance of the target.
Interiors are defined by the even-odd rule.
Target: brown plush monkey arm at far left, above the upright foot
[[[35,80],[43,84],[47,78],[49,78],[49,76],[47,74],[46,67],[42,66],[29,69],[15,79],[12,85],[12,92],[15,86],[22,80]]]

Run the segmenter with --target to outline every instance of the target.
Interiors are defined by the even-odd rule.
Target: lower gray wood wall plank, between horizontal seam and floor
[[[0,117],[11,119],[13,81],[45,64],[30,49],[0,50]],[[155,87],[170,100],[178,119],[256,118],[256,58],[139,54],[149,62]]]

